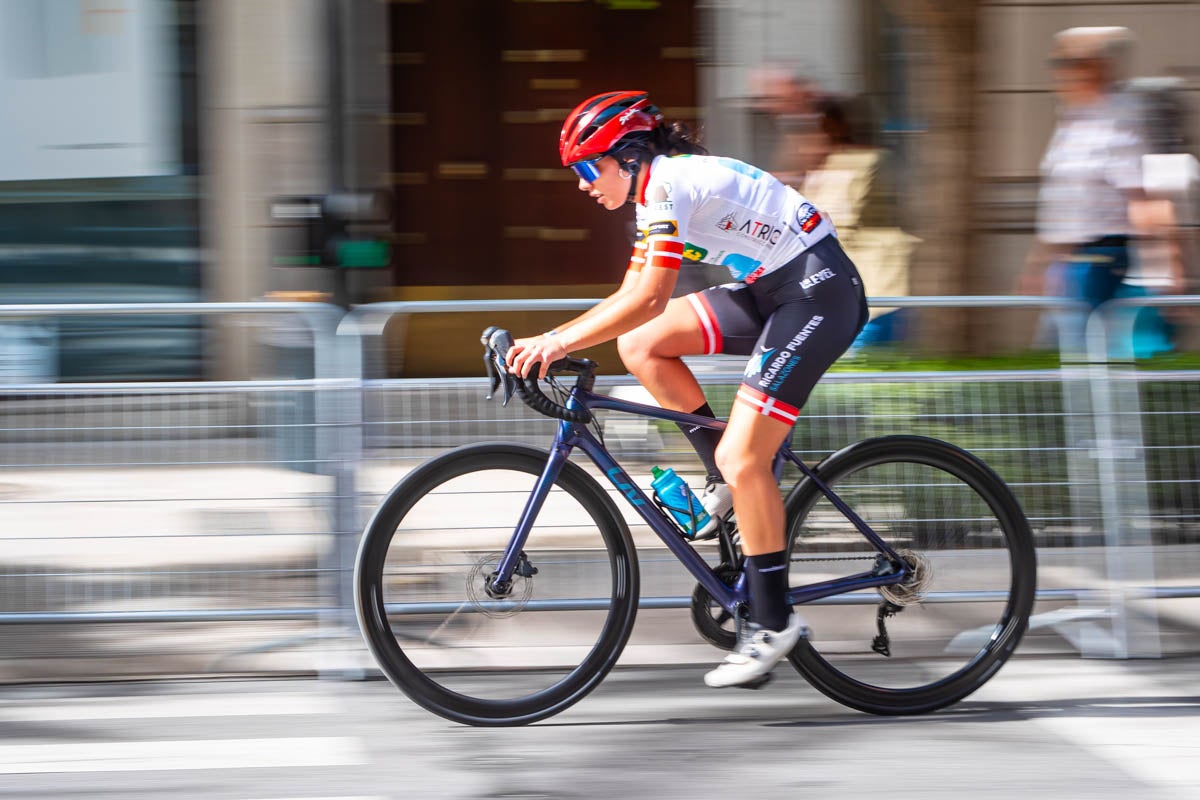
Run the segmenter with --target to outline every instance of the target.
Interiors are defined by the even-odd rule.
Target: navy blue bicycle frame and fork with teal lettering
[[[655,420],[698,425],[714,429],[725,428],[725,422],[720,420],[695,416],[682,411],[671,411],[656,405],[646,405],[644,403],[616,399],[613,397],[596,395],[578,387],[571,391],[566,408],[624,411]],[[658,510],[656,506],[654,506],[653,501],[637,486],[637,483],[629,477],[620,464],[618,464],[616,459],[608,455],[608,451],[596,439],[595,434],[592,433],[587,425],[565,421],[559,422],[558,432],[554,435],[554,443],[551,446],[550,458],[546,461],[546,468],[539,476],[538,482],[526,503],[526,507],[521,512],[521,519],[517,523],[512,539],[509,541],[509,545],[504,551],[504,558],[497,566],[497,576],[499,578],[506,581],[512,576],[512,572],[517,566],[517,561],[520,560],[521,552],[524,548],[526,540],[533,528],[533,522],[536,519],[542,503],[550,494],[550,488],[558,479],[558,474],[562,471],[563,464],[575,449],[580,449],[588,455],[592,462],[600,468],[600,471],[605,474],[614,487],[617,487],[617,491],[620,492],[634,506],[634,510],[641,515],[642,519],[646,521],[650,529],[658,534],[659,539],[662,540],[667,548],[674,553],[676,558],[679,559],[684,567],[692,576],[695,576],[696,581],[698,581],[704,589],[708,590],[708,594],[714,601],[716,601],[718,604],[730,613],[737,613],[737,608],[748,602],[749,594],[745,585],[745,575],[739,576],[732,587],[726,585],[725,582],[716,577],[716,573],[714,573],[712,567],[708,566],[708,563],[704,561],[703,557],[700,555],[691,547],[688,540],[680,535],[679,529],[676,528],[666,518],[666,516]],[[818,479],[812,470],[809,469],[809,467],[792,452],[786,441],[782,447],[780,447],[779,455],[775,459],[776,476],[781,474],[784,459],[796,464],[799,470],[829,499],[838,511],[840,511],[881,554],[887,555],[890,565],[894,565],[894,569],[886,573],[882,573],[878,570],[872,570],[870,572],[860,572],[842,578],[834,578],[833,581],[822,581],[821,583],[792,587],[787,590],[788,603],[806,603],[821,597],[840,595],[848,591],[856,591],[858,589],[886,587],[904,581],[907,576],[907,567],[904,559],[896,555],[895,552],[893,552],[892,548],[888,547],[874,530],[871,530],[870,525],[863,522],[863,519],[854,513],[854,511],[847,506],[845,501],[842,501],[842,499],[833,492],[833,489],[826,486],[824,482],[821,481],[821,479]]]

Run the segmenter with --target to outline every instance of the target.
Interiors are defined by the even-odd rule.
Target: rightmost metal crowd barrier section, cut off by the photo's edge
[[[1198,306],[1196,295],[1120,299],[1086,325],[1116,657],[1160,655],[1169,606],[1154,600],[1200,597],[1200,371],[1133,357],[1142,309]]]

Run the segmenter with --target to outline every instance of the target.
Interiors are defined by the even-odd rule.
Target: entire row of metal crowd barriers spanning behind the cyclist
[[[304,658],[282,654],[312,638],[353,637],[354,548],[382,494],[448,447],[484,439],[545,446],[553,425],[520,403],[484,401],[482,375],[377,375],[383,325],[397,314],[571,312],[594,302],[376,303],[348,314],[282,302],[0,307],[0,324],[113,314],[245,319],[274,336],[276,357],[305,373],[0,384],[0,680],[32,679],[50,662],[54,674],[70,675],[66,655],[116,672],[148,654],[196,672],[200,651],[214,655],[211,669],[298,668]],[[1080,311],[1038,297],[874,303]],[[1054,633],[1090,656],[1157,655],[1174,646],[1160,637],[1163,602],[1200,596],[1200,371],[1147,372],[1108,357],[1111,342],[1128,335],[1120,312],[1146,305],[1200,297],[1118,301],[1092,315],[1088,351],[1066,353],[1058,368],[834,371],[806,405],[794,446],[818,459],[869,435],[911,432],[976,452],[1013,486],[1038,537],[1034,633]],[[276,320],[287,336],[263,329]],[[718,413],[727,411],[740,360],[689,361]],[[624,375],[598,383],[637,391]],[[694,462],[698,471],[673,426],[611,420],[605,432],[625,463],[686,471]],[[640,519],[628,518],[640,533]],[[643,607],[684,607],[688,576],[653,549],[641,557]],[[137,637],[121,633],[131,626],[139,626]],[[679,627],[691,636],[686,622]]]

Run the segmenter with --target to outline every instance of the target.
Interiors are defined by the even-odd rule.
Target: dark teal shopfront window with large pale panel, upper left
[[[0,302],[203,296],[199,5],[0,2]],[[5,339],[17,380],[185,377],[202,350],[181,318],[17,323]]]

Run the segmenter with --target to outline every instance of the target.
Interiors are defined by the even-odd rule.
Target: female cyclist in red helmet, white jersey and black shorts
[[[605,209],[636,203],[637,240],[617,291],[547,333],[517,339],[509,366],[545,377],[568,353],[616,338],[659,404],[713,416],[680,356],[750,356],[724,435],[684,433],[709,473],[703,503],[714,519],[732,499],[750,593],[750,636],[704,682],[761,685],[804,631],[786,602],[784,501],[772,462],[812,386],[866,321],[862,281],[811,203],[750,164],[708,156],[685,126],[662,122],[646,92],[586,100],[566,118],[558,149],[580,191]],[[697,261],[728,267],[734,282],[671,299],[680,266]]]

